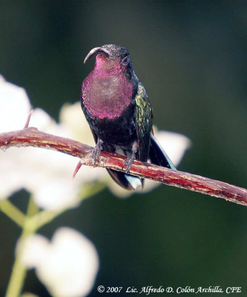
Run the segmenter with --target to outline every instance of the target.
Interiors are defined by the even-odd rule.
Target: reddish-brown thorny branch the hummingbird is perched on
[[[81,163],[90,164],[90,152],[92,147],[77,141],[54,136],[30,127],[19,131],[0,134],[0,148],[7,149],[11,146],[34,146],[45,149],[53,149],[74,157],[80,157]],[[122,170],[125,156],[102,151],[100,162],[96,166]],[[196,191],[210,196],[224,198],[234,203],[247,205],[247,190],[218,180],[208,179],[203,176],[182,171],[174,171],[165,167],[149,163],[134,161],[130,173],[146,179],[152,179],[166,185],[180,187],[190,191]]]

